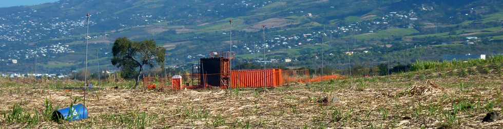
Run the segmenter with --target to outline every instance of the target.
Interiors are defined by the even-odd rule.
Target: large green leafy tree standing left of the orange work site
[[[140,75],[146,66],[164,66],[166,49],[158,47],[153,40],[136,42],[122,37],[113,43],[112,53],[112,65],[122,70],[122,78],[135,78],[134,88],[138,89]]]

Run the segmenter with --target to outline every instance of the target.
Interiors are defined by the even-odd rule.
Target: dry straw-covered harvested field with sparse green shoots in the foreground
[[[501,128],[501,69],[490,74],[404,73],[274,89],[90,91],[89,119],[72,123],[9,123],[0,128]],[[0,84],[11,84],[0,81]],[[0,111],[18,104],[27,113],[83,102],[82,90],[2,85]]]

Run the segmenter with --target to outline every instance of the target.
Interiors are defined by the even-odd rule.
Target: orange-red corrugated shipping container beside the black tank
[[[281,69],[233,70],[232,88],[282,86],[284,82],[281,72]]]

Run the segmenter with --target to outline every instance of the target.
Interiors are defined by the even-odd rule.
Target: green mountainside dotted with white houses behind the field
[[[333,67],[347,67],[345,53],[355,62],[417,59],[439,60],[449,54],[501,54],[499,43],[503,2],[474,1],[84,1],[0,8],[0,71],[32,71],[35,43],[40,69],[68,72],[83,66],[85,14],[91,13],[91,51],[96,62],[109,65],[110,43],[118,37],[154,39],[168,49],[168,65],[197,61],[209,51],[229,49],[229,20],[233,20],[233,50],[238,63],[261,59],[294,59],[285,66],[318,67],[322,34],[323,57]],[[266,25],[266,40],[262,39]],[[477,40],[467,40],[477,37]],[[470,43],[473,43],[470,45]],[[59,44],[60,46],[54,46]],[[68,46],[66,46],[68,45]],[[438,45],[458,49],[451,53],[421,55]],[[44,47],[44,48],[42,48]],[[61,50],[63,48],[64,50]],[[471,49],[488,47],[491,51]],[[416,49],[415,49],[416,48]],[[52,50],[51,49],[57,49]],[[364,51],[367,51],[364,53]],[[20,60],[18,64],[11,60]],[[276,65],[274,65],[276,66]]]

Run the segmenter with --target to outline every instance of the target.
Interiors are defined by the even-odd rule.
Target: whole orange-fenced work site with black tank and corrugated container
[[[227,88],[265,88],[280,87],[291,83],[315,83],[328,80],[344,79],[339,75],[317,76],[312,78],[309,70],[252,69],[231,70],[234,58],[231,53],[211,52],[209,58],[200,59],[199,65],[192,66],[192,73],[176,75],[171,78],[171,89]],[[144,86],[159,81],[159,86],[169,78],[144,77]],[[231,85],[232,84],[232,85]],[[230,87],[231,86],[231,87]]]

